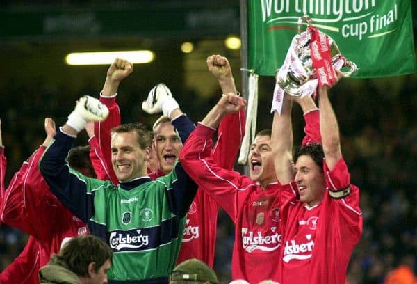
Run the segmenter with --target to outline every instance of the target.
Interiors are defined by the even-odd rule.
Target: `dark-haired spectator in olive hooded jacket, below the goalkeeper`
[[[112,259],[111,248],[98,237],[74,237],[40,269],[40,283],[106,284]]]

